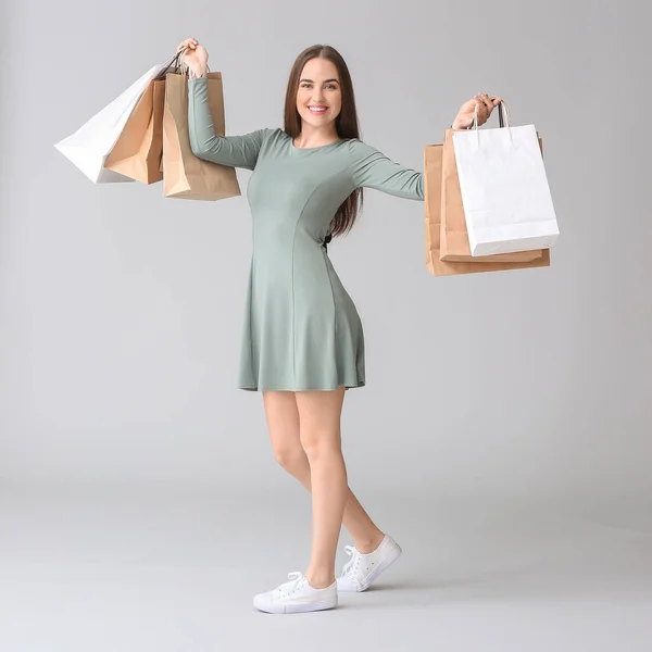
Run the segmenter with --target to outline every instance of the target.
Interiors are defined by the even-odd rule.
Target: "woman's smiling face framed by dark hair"
[[[299,78],[297,111],[313,127],[323,128],[339,115],[342,92],[335,63],[327,59],[311,59]]]

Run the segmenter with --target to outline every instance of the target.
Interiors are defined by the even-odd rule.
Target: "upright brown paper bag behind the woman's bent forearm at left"
[[[222,73],[208,73],[209,105],[215,135],[225,135]],[[236,171],[199,159],[188,134],[188,77],[165,77],[163,113],[163,192],[165,197],[215,201],[240,195]]]

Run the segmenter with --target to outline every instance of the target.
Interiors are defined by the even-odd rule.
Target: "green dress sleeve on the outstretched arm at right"
[[[356,188],[374,188],[404,199],[424,199],[424,175],[388,159],[362,140],[353,140],[351,175]]]

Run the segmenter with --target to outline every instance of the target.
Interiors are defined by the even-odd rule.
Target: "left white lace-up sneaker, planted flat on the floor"
[[[337,581],[325,589],[312,587],[303,573],[289,573],[290,581],[253,598],[253,606],[268,614],[296,614],[337,606]]]

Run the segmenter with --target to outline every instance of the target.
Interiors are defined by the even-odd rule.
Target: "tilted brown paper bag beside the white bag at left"
[[[148,185],[163,178],[164,103],[165,80],[152,79],[127,120],[104,167]]]

